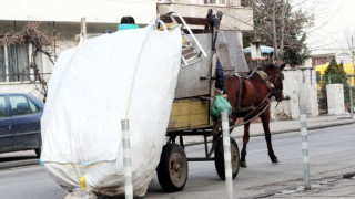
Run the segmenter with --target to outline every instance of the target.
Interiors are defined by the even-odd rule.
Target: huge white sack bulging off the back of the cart
[[[133,190],[146,192],[165,143],[181,41],[179,29],[144,28],[85,40],[61,54],[42,116],[41,161],[62,187],[80,188],[85,176],[87,192],[124,193],[121,119],[132,88]]]

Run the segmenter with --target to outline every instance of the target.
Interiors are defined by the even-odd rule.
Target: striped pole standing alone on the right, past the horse
[[[300,106],[301,111],[301,135],[302,135],[302,154],[303,154],[303,171],[304,171],[304,189],[311,190],[310,184],[310,156],[308,156],[308,138],[307,138],[307,121],[304,113],[304,106]]]

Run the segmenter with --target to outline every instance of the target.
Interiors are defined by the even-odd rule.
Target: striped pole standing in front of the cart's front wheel
[[[221,112],[221,116],[222,116],[224,176],[225,176],[226,193],[229,199],[233,199],[232,157],[231,157],[229,114],[226,113],[226,111],[223,111]]]

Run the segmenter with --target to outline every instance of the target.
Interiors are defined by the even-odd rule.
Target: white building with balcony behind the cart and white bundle
[[[145,25],[158,13],[176,11],[185,17],[206,17],[210,8],[224,13],[221,29],[253,30],[253,10],[242,7],[240,0],[11,0],[1,3],[0,36],[10,30],[21,30],[28,21],[41,22],[41,29],[60,33],[52,49],[57,55],[78,44],[80,20],[85,18],[88,34],[116,31],[121,17],[132,15],[140,25]],[[0,93],[26,92],[42,97],[30,83],[30,45],[0,46]],[[53,71],[51,62],[42,55],[37,57],[40,72],[47,80]]]

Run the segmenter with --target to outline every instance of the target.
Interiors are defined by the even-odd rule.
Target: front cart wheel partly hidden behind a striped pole
[[[231,137],[231,156],[232,156],[232,172],[233,179],[236,177],[240,170],[240,150],[234,138]],[[215,169],[222,180],[225,180],[224,176],[224,155],[223,155],[223,138],[220,138],[214,150],[214,164]]]

